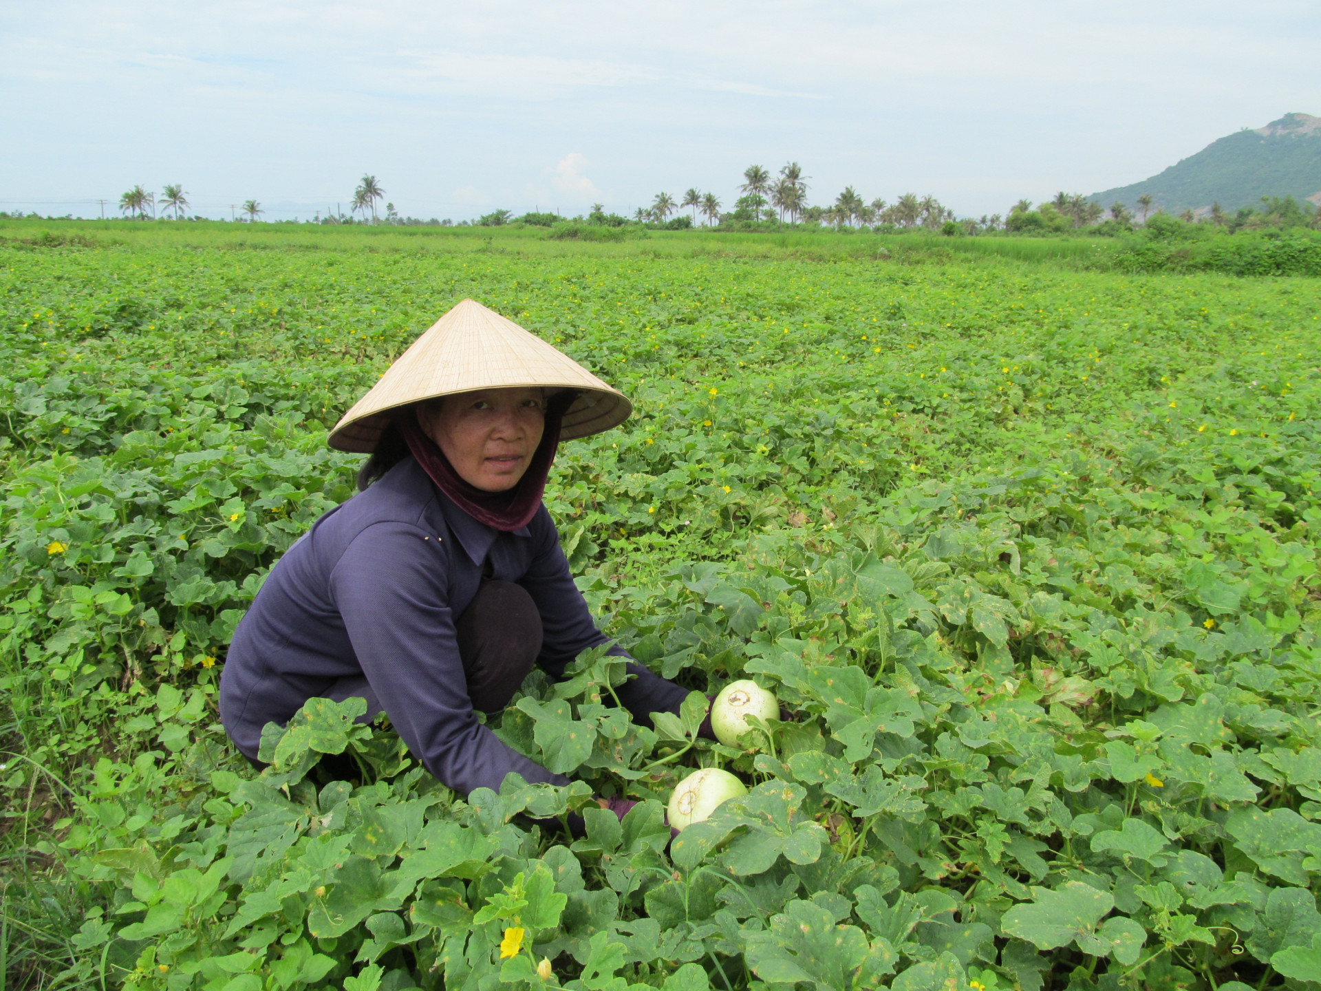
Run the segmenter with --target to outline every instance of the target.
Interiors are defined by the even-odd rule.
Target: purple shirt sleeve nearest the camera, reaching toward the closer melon
[[[530,782],[567,785],[477,721],[448,571],[448,546],[435,535],[382,522],[363,530],[330,572],[332,599],[382,708],[423,766],[465,795],[498,791],[511,770]]]

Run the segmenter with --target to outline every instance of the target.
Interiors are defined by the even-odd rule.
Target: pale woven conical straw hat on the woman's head
[[[330,431],[339,451],[371,453],[390,412],[424,399],[478,388],[576,388],[561,440],[587,437],[624,423],[633,403],[567,354],[476,300],[464,300],[413,341],[386,374]]]

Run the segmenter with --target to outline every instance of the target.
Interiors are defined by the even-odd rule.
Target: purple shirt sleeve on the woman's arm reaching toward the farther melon
[[[596,626],[587,600],[573,584],[568,559],[560,547],[559,532],[546,506],[538,511],[528,530],[536,542],[532,564],[519,584],[527,589],[542,614],[542,653],[538,663],[552,678],[563,678],[564,669],[584,650],[609,640]],[[688,690],[653,674],[634,661],[618,643],[610,647],[616,657],[629,658],[629,680],[616,687],[624,707],[642,725],[651,725],[653,712],[679,712]]]

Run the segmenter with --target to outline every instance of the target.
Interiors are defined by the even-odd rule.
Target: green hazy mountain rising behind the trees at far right
[[[1107,207],[1118,200],[1140,210],[1137,197],[1144,193],[1152,197],[1152,210],[1168,213],[1201,213],[1217,202],[1232,211],[1258,206],[1263,196],[1285,194],[1321,206],[1321,118],[1285,114],[1255,131],[1243,128],[1145,182],[1092,193],[1090,198]]]

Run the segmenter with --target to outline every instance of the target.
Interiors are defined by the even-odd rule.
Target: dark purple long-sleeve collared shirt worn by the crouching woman
[[[271,571],[243,617],[221,674],[221,721],[248,757],[262,728],[309,698],[365,694],[379,702],[423,765],[468,794],[505,774],[567,784],[477,721],[454,620],[482,580],[522,585],[542,616],[538,663],[559,678],[606,641],[573,584],[550,513],[514,532],[478,523],[411,457],[318,519]],[[614,646],[610,653],[627,657]],[[678,712],[687,690],[630,663],[617,688],[634,716]],[[357,679],[366,691],[345,694]],[[338,688],[338,691],[337,691]],[[374,695],[374,699],[370,698]]]

